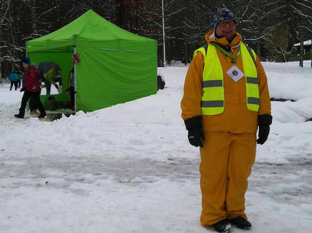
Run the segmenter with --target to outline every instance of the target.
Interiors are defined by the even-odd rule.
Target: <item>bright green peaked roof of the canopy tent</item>
[[[108,22],[92,10],[46,36],[26,42],[26,51],[83,45],[106,49],[154,50],[155,40],[135,35]]]

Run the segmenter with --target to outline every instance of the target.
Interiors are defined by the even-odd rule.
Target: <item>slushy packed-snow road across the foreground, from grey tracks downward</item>
[[[4,206],[1,203],[7,217],[3,232],[20,232],[16,222],[27,232],[207,232],[198,222],[199,159],[163,162],[105,154],[14,157],[5,158],[0,166],[1,198],[7,200]],[[311,160],[256,163],[246,195],[247,213],[256,222],[250,232],[269,232],[263,231],[264,226],[270,232],[309,232],[311,192]],[[27,222],[22,221],[25,218]],[[276,226],[277,222],[282,224]]]

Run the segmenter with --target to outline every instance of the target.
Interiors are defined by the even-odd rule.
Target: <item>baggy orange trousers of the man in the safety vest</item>
[[[200,148],[202,226],[245,214],[247,178],[256,158],[256,133],[207,132]]]

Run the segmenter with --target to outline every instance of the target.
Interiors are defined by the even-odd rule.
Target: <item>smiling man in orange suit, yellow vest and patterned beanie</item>
[[[181,101],[189,142],[200,146],[200,221],[218,232],[230,231],[231,223],[251,228],[245,214],[247,178],[256,143],[265,143],[272,123],[265,71],[235,30],[233,12],[215,13],[207,44],[194,52]]]

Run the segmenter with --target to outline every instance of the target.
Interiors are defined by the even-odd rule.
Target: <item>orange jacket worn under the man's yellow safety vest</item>
[[[236,46],[242,37],[236,32],[236,36],[228,43],[226,37],[220,39],[214,36],[213,31],[209,31],[205,39],[207,42],[216,42],[220,46]],[[233,56],[236,57],[239,47],[233,49]],[[231,53],[231,51],[230,51]],[[224,111],[217,115],[202,115],[202,130],[203,132],[212,131],[227,131],[232,133],[256,133],[258,126],[258,115],[271,115],[271,102],[269,89],[265,71],[260,63],[260,59],[256,57],[256,67],[258,73],[259,85],[259,111],[251,111],[246,105],[246,83],[245,76],[235,82],[227,75],[233,63],[231,58],[217,49],[217,55],[221,62],[223,77],[224,77]],[[203,70],[205,66],[204,56],[201,52],[193,58],[184,83],[184,95],[181,101],[182,118],[183,120],[201,115],[202,102],[202,82]],[[244,73],[243,62],[241,55],[236,59],[236,66]]]

